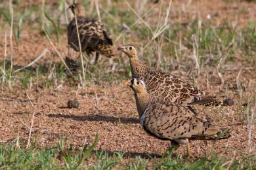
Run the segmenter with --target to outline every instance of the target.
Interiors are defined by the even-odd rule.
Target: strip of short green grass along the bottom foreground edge
[[[255,169],[255,156],[242,156],[240,160],[221,157],[216,154],[209,158],[198,158],[188,161],[182,155],[173,156],[173,152],[167,152],[165,156],[155,159],[150,154],[148,158],[142,156],[129,156],[125,152],[110,152],[95,150],[98,143],[98,135],[94,143],[86,144],[78,149],[61,139],[58,146],[51,148],[39,148],[31,145],[26,149],[26,143],[18,140],[16,144],[0,144],[0,166],[4,169]],[[18,146],[18,147],[17,147]],[[93,152],[95,150],[95,152]],[[124,163],[123,159],[129,157],[133,161]],[[92,161],[96,158],[96,162]]]

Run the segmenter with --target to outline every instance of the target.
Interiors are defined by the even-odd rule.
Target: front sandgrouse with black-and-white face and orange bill
[[[126,84],[135,92],[140,124],[144,131],[158,139],[170,140],[178,146],[186,142],[188,156],[192,156],[188,139],[215,140],[224,130],[209,120],[195,116],[187,107],[165,100],[158,101],[146,92],[146,85],[142,80],[132,78]],[[219,135],[219,139],[228,137],[230,133]]]

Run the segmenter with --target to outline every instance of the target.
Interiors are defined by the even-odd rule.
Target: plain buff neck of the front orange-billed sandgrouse
[[[148,93],[136,93],[135,100],[139,117],[141,117],[143,112],[146,110],[146,107],[148,107],[150,96],[148,95]]]

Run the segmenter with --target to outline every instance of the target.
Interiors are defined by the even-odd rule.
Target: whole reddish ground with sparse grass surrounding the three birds
[[[114,59],[102,57],[91,65],[89,56],[83,58],[80,52],[81,65],[85,65],[69,76],[72,71],[63,58],[75,57],[66,43],[70,12],[64,1],[9,2],[0,6],[0,122],[5,123],[0,140],[9,143],[0,144],[1,166],[75,167],[83,160],[85,150],[78,150],[81,143],[87,137],[92,143],[90,137],[100,133],[99,144],[84,166],[255,168],[255,2],[81,1],[90,16],[106,25],[114,48],[133,43],[140,58],[151,67],[177,75],[221,99],[234,99],[234,107],[197,108],[201,116],[210,116],[215,123],[230,127],[233,136],[215,146],[192,143],[193,151],[202,157],[196,161],[184,159],[182,150],[174,158],[172,152],[162,156],[168,143],[140,131],[132,94],[123,87],[123,80],[131,75],[125,56],[117,53]],[[44,12],[53,23],[45,20]],[[20,18],[22,25],[18,27]],[[15,44],[12,41],[16,30],[20,35]],[[65,109],[70,98],[79,99],[80,110]],[[33,113],[34,122],[32,114],[27,113]],[[28,124],[31,126],[26,133]],[[59,137],[72,138],[67,146],[71,152],[62,150],[62,146],[53,147],[61,142]],[[10,146],[10,140],[16,138],[20,138],[16,140],[20,150]],[[70,154],[69,160],[64,160],[60,152]],[[23,161],[26,156],[31,159]],[[12,160],[14,157],[17,159]]]

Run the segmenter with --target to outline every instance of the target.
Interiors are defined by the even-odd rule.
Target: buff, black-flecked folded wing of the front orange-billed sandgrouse
[[[161,139],[215,139],[221,132],[208,120],[203,120],[181,105],[154,103],[148,105],[144,129]]]

